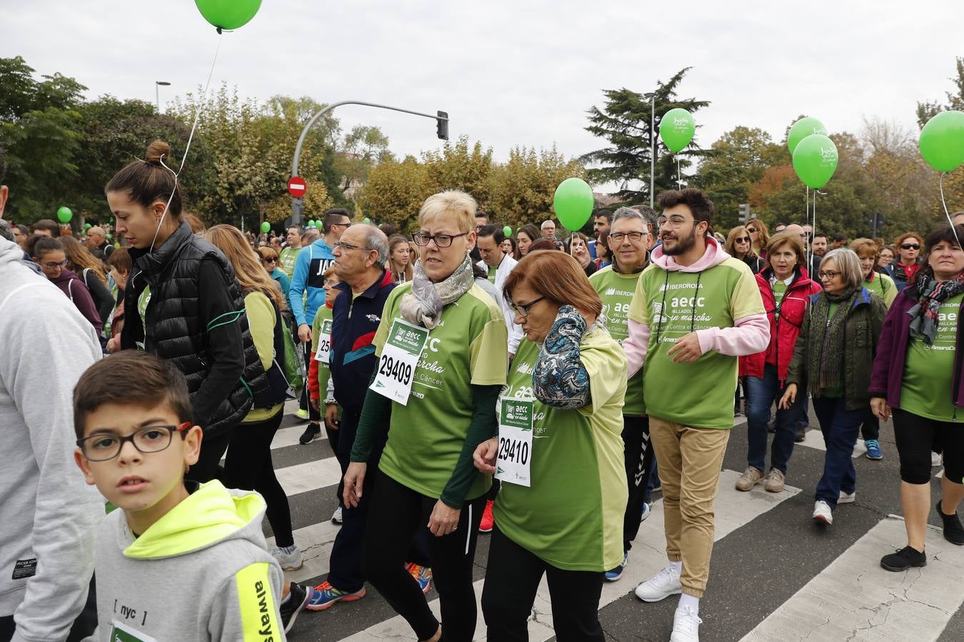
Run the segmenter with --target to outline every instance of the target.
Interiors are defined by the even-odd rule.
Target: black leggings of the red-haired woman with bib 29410
[[[638,515],[636,521],[639,521]],[[482,614],[490,640],[526,642],[526,621],[532,612],[543,574],[549,584],[552,628],[559,642],[603,642],[599,605],[602,571],[563,571],[502,534],[496,525],[489,545],[489,567],[482,589]],[[448,639],[448,630],[444,631]]]

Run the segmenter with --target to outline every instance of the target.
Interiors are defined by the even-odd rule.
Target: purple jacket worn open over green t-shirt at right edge
[[[884,328],[877,343],[877,356],[870,372],[870,397],[886,398],[892,408],[900,407],[900,387],[904,363],[907,360],[907,343],[910,339],[910,321],[907,311],[917,304],[917,288],[910,286],[900,292],[884,319]],[[964,408],[964,302],[957,314],[957,340],[954,344],[954,370],[951,374],[953,404]]]

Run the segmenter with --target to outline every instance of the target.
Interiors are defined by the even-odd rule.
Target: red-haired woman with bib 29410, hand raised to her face
[[[623,559],[626,355],[573,257],[529,252],[503,292],[526,340],[499,396],[498,436],[475,450],[476,467],[503,482],[482,592],[488,639],[528,639],[545,575],[556,638],[602,642],[603,577]]]

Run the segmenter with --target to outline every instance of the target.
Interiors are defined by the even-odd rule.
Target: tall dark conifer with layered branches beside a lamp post
[[[704,155],[694,138],[691,149],[674,157],[658,142],[652,149],[651,140],[658,141],[659,120],[666,112],[677,107],[695,113],[710,105],[708,100],[680,98],[677,89],[683,76],[691,67],[684,67],[665,83],[658,82],[656,96],[656,130],[651,131],[650,94],[638,93],[626,88],[605,90],[603,108],[591,107],[589,126],[586,131],[605,139],[608,147],[589,152],[582,157],[584,163],[595,163],[589,169],[589,178],[596,183],[616,182],[617,194],[626,201],[641,202],[649,199],[650,164],[656,163],[656,192],[677,188],[676,157],[680,168],[691,167],[693,158]],[[652,138],[651,138],[652,135]],[[661,151],[663,149],[663,151]],[[636,189],[638,188],[638,189]]]

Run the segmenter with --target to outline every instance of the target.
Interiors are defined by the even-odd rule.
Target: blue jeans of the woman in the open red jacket
[[[746,461],[762,473],[766,472],[766,423],[770,420],[770,406],[783,397],[775,366],[763,367],[763,378],[746,377]],[[776,434],[770,447],[770,466],[787,475],[787,464],[793,454],[796,423],[800,420],[807,391],[799,391],[789,410],[777,410]]]

